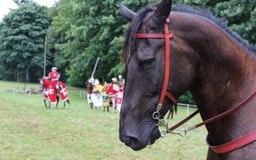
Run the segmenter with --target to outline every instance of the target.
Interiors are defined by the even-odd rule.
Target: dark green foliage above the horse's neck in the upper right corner
[[[232,31],[236,31],[247,42],[256,44],[256,1],[177,0],[176,2],[210,10],[217,17],[227,20]]]

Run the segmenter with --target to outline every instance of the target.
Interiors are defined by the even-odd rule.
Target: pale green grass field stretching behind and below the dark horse
[[[27,84],[26,89],[38,89]],[[91,110],[79,90],[67,87],[71,105],[46,109],[43,95],[13,94],[24,83],[0,81],[0,159],[206,159],[205,127],[185,137],[167,134],[153,146],[133,151],[119,141],[119,113]],[[189,108],[189,112],[195,111]],[[179,106],[171,121],[186,117],[186,108]],[[184,127],[200,123],[196,116]]]

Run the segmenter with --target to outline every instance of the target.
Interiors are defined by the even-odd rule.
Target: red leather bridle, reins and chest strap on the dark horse
[[[170,66],[170,61],[171,61],[171,50],[170,50],[170,38],[172,38],[174,35],[172,33],[169,33],[169,29],[168,29],[168,23],[169,23],[169,19],[166,19],[166,24],[165,24],[165,34],[139,34],[137,33],[136,37],[137,38],[164,38],[166,41],[166,53],[165,53],[165,77],[164,77],[164,84],[163,84],[163,88],[161,90],[161,94],[160,94],[160,100],[159,100],[159,104],[157,106],[156,112],[154,113],[159,113],[160,108],[163,104],[163,101],[165,99],[165,97],[167,97],[168,99],[172,100],[173,103],[176,102],[176,99],[174,98],[174,96],[172,96],[172,94],[167,92],[167,88],[168,88],[168,83],[169,83],[169,77],[170,77],[170,71],[171,71],[171,66]],[[241,106],[244,106],[247,104],[247,102],[249,100],[252,100],[253,97],[256,95],[256,91],[253,92],[253,94],[249,95],[247,97],[246,100],[243,100],[238,106],[235,106],[233,108],[231,108],[229,111],[225,111],[224,113],[219,114],[218,116],[212,117],[202,123],[198,123],[194,126],[189,127],[188,129],[182,129],[180,132],[178,132],[178,134],[180,135],[185,135],[188,131],[196,129],[201,127],[202,125],[206,125],[207,123],[212,123],[213,121],[216,121],[222,117],[225,117],[227,115],[230,115],[232,112],[237,111],[238,109],[241,108]],[[156,117],[156,115],[153,114],[154,119],[157,119],[160,123],[160,126],[165,126],[166,127],[166,132],[167,133],[172,133],[172,130],[177,129],[178,127],[180,127],[183,123],[186,123],[187,121],[189,121],[190,118],[195,117],[195,115],[198,113],[199,111],[195,111],[194,113],[192,113],[189,117],[186,117],[183,121],[181,121],[180,123],[177,123],[176,125],[174,125],[172,128],[168,128],[168,123],[165,122],[164,119],[160,119],[159,117]],[[181,132],[183,132],[183,134],[181,134]],[[224,145],[221,146],[210,146],[208,143],[208,136],[207,136],[207,145],[212,149],[212,151],[215,151],[216,153],[226,153],[229,151],[234,151],[242,146],[246,146],[249,143],[252,143],[253,141],[256,140],[256,130],[254,130],[253,132],[246,134],[236,140],[232,140],[228,143],[225,143]]]

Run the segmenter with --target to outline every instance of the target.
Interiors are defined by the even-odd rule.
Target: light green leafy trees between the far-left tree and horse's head
[[[120,56],[127,22],[119,12],[118,2],[60,0],[57,15],[53,18],[53,27],[55,31],[65,32],[66,35],[67,41],[57,43],[56,49],[62,50],[70,60],[66,72],[68,83],[84,85],[91,76],[97,57],[100,60],[95,76],[100,80],[109,81],[111,77],[124,74]],[[137,9],[151,2],[127,1],[132,4],[131,8]]]

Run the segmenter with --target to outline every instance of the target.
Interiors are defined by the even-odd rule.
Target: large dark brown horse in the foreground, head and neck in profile
[[[209,149],[207,159],[254,159],[255,47],[201,9],[172,6],[170,0],[148,5],[137,13],[120,6],[131,26],[124,47],[126,84],[119,139],[136,151],[154,144],[160,138],[160,121],[152,117],[153,113],[160,109],[157,117],[164,117],[174,98],[190,90],[203,121],[242,106],[206,124],[211,146],[221,146],[254,133],[250,134],[251,142],[235,150],[219,154]],[[154,38],[152,34],[160,35]],[[166,59],[165,54],[170,58]],[[165,98],[161,104],[161,93],[165,92],[174,98]]]

